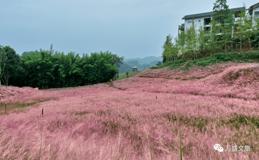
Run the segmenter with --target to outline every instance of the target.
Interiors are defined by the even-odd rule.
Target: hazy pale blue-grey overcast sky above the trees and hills
[[[21,55],[41,48],[105,52],[125,58],[161,56],[185,15],[211,12],[216,0],[0,0],[0,45]],[[256,1],[227,0],[229,8]]]

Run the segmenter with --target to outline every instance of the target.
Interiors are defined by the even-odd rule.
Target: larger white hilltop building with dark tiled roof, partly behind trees
[[[257,4],[259,6],[259,3],[257,3]],[[244,9],[244,7],[230,9],[230,10],[235,11],[235,14],[233,14],[233,17],[235,18],[235,22],[238,19],[237,13],[241,12],[242,9]],[[259,11],[259,9],[258,9],[258,11]],[[192,25],[192,19],[194,20],[194,24],[196,24],[195,29],[197,31],[199,30],[201,25],[204,27],[204,29],[209,29],[212,15],[213,15],[213,12],[206,12],[206,13],[199,13],[199,14],[195,14],[195,15],[184,16],[182,18],[182,19],[184,19],[184,23],[182,25],[178,26],[178,32],[179,32],[179,30],[184,31],[187,28],[190,28]],[[258,16],[259,16],[259,14],[258,14]]]

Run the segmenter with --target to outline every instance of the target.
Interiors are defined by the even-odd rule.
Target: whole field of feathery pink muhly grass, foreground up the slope
[[[174,160],[180,144],[186,160],[257,160],[258,67],[148,69],[110,85],[38,91],[2,87],[0,160]],[[226,151],[235,145],[250,151]]]

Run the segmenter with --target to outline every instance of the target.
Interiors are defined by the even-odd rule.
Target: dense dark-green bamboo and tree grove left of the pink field
[[[106,51],[75,52],[65,55],[52,49],[24,52],[21,56],[10,46],[0,46],[0,80],[5,85],[39,89],[84,86],[114,79],[124,57]]]

